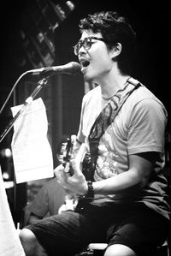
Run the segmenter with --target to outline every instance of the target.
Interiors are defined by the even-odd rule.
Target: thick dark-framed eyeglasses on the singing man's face
[[[92,39],[100,40],[104,42],[103,38],[97,38],[97,37],[88,37],[84,40],[80,40],[77,45],[74,46],[74,54],[77,56],[79,55],[80,48],[83,46],[85,48],[85,51],[89,50],[91,48],[91,45],[95,44],[96,42],[92,42]]]

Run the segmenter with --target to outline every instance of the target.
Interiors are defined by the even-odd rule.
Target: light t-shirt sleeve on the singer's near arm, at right
[[[128,124],[128,153],[164,152],[167,118],[162,104],[146,98],[134,107]]]

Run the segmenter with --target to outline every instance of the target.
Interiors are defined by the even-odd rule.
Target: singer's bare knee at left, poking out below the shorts
[[[35,253],[37,239],[30,229],[21,229],[19,234],[22,247],[27,256],[32,256]]]

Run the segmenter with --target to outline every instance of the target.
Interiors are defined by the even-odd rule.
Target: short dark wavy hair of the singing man
[[[126,17],[116,11],[97,12],[80,20],[79,27],[80,32],[91,29],[93,33],[102,33],[109,49],[112,49],[116,43],[121,43],[122,51],[117,57],[118,68],[122,74],[131,74],[136,50],[136,34]]]

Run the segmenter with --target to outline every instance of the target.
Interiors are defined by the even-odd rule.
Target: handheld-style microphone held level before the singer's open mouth
[[[80,73],[80,64],[74,63],[74,62],[67,63],[62,66],[38,68],[38,69],[31,69],[27,71],[27,74],[42,75],[45,77],[49,77],[53,74],[78,74],[78,73]]]

